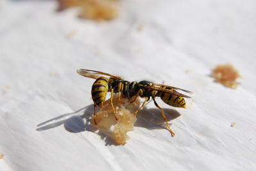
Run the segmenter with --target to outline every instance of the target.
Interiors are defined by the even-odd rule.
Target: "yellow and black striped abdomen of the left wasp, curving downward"
[[[108,93],[108,79],[99,77],[92,85],[92,100],[97,107],[102,107]]]

